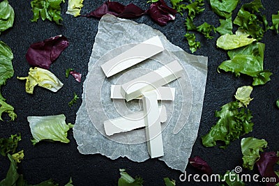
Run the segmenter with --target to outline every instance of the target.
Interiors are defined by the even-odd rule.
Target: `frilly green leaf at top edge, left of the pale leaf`
[[[31,1],[31,7],[33,11],[33,19],[31,22],[37,22],[39,17],[43,21],[50,20],[56,24],[61,24],[63,20],[61,17],[61,6],[60,4],[64,0],[33,0]]]

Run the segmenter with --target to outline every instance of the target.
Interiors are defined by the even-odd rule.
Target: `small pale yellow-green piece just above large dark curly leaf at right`
[[[239,100],[239,107],[247,107],[250,101],[253,98],[250,98],[250,94],[252,93],[252,86],[241,86],[237,88],[236,94],[234,98]]]

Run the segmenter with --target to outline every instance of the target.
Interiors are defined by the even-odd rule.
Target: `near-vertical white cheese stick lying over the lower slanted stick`
[[[160,157],[164,155],[164,148],[156,91],[146,92],[143,95],[147,149],[151,158]]]

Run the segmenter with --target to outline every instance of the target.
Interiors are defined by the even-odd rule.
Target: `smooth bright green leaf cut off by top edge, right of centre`
[[[210,0],[214,13],[222,17],[232,17],[232,11],[236,8],[239,0]]]

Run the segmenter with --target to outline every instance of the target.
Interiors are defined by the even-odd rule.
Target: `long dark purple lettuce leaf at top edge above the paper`
[[[130,3],[127,6],[124,6],[121,3],[113,1],[105,1],[102,6],[93,10],[91,13],[85,15],[85,17],[97,17],[100,18],[105,14],[112,14],[116,17],[132,19],[141,17],[145,14],[145,11],[142,8],[135,6],[135,4]]]

